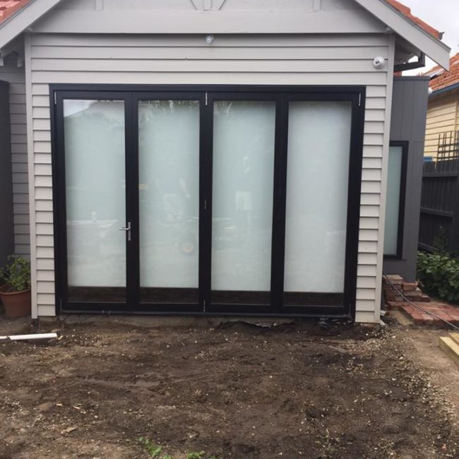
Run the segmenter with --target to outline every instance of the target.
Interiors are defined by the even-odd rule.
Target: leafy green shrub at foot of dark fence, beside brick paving
[[[446,252],[419,252],[417,278],[432,296],[459,303],[459,258]]]

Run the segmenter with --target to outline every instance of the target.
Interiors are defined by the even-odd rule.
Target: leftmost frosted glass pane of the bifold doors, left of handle
[[[64,100],[68,299],[126,294],[124,102]]]

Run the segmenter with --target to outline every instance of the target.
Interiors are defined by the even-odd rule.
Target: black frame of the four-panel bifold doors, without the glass
[[[54,208],[54,263],[56,314],[257,315],[354,318],[357,289],[360,189],[364,132],[364,86],[273,85],[86,85],[49,87],[52,130]],[[152,97],[154,97],[152,99]],[[126,114],[126,220],[133,222],[131,243],[126,238],[126,304],[68,303],[66,205],[64,165],[64,99],[124,100]],[[138,100],[200,101],[200,235],[198,304],[141,304],[138,246]],[[213,100],[268,100],[275,102],[275,166],[270,305],[210,304],[210,252],[212,225]],[[348,101],[352,104],[350,173],[348,186],[344,304],[342,306],[282,306],[285,256],[285,195],[287,180],[288,102],[291,100]],[[128,307],[128,305],[130,307]]]

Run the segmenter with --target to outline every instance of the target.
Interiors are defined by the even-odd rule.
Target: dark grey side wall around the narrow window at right
[[[403,254],[398,260],[384,259],[387,274],[400,274],[408,282],[416,280],[419,209],[421,205],[422,163],[426,131],[429,78],[395,78],[393,87],[391,141],[408,142],[408,165],[403,225]]]

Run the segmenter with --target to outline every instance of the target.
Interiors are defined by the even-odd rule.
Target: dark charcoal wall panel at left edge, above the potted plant
[[[9,85],[0,81],[0,266],[14,249],[9,112]]]

